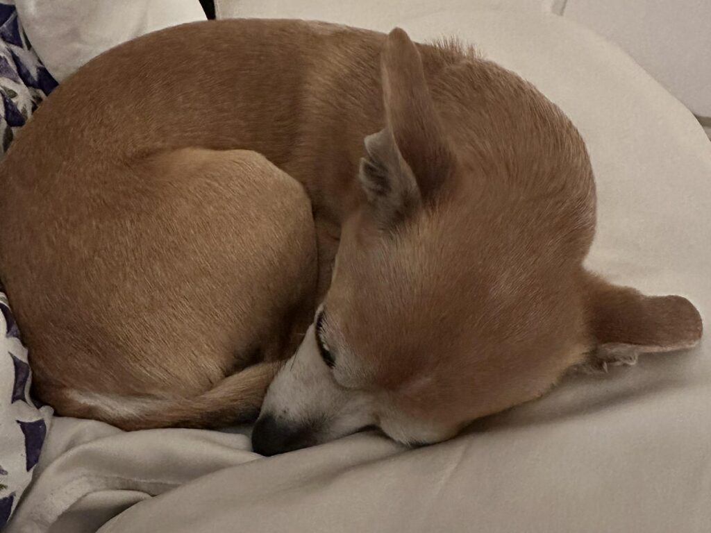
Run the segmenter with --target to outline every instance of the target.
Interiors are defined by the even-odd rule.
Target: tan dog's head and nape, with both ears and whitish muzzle
[[[438,90],[458,101],[436,107],[417,47],[398,30],[385,41],[386,125],[365,139],[365,201],[343,224],[314,325],[269,387],[256,451],[365,426],[402,443],[442,441],[540,396],[591,353],[700,336],[683,298],[585,273],[594,188],[584,145],[533,87],[487,68],[483,78],[454,68]],[[467,92],[482,82],[478,97]],[[465,109],[470,94],[481,109]]]

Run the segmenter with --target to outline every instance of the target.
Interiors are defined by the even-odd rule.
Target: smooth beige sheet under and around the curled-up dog
[[[371,1],[348,11],[370,18],[355,22],[396,22]],[[440,11],[399,22],[417,38],[460,33],[560,104],[597,173],[589,264],[651,293],[690,296],[708,316],[711,144],[680,103],[558,18]],[[704,341],[567,379],[539,402],[415,451],[360,434],[260,458],[240,434],[122,434],[58,419],[8,531],[709,532],[709,352]]]

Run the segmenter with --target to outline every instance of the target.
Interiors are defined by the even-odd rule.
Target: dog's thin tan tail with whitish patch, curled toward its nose
[[[44,394],[59,414],[106,421],[121,429],[218,428],[254,420],[269,384],[284,364],[261,362],[229,375],[194,397],[102,394],[55,389]]]

